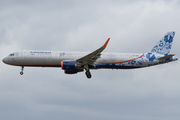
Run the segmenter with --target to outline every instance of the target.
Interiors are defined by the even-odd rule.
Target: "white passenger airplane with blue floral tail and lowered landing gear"
[[[175,54],[170,54],[175,32],[168,32],[152,48],[151,51],[139,53],[102,53],[110,38],[99,49],[88,52],[68,51],[19,51],[13,52],[2,61],[8,65],[24,67],[61,67],[65,74],[76,74],[86,71],[91,78],[90,69],[135,69],[178,60]]]

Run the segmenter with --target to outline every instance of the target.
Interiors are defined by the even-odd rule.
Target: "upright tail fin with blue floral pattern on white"
[[[170,53],[173,38],[175,32],[168,32],[164,35],[164,37],[154,46],[151,50],[152,53],[164,54],[165,56]]]

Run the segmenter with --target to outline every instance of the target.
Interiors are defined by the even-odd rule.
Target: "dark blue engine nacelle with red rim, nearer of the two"
[[[61,68],[63,70],[75,70],[76,68],[81,68],[81,66],[77,65],[75,61],[62,61]]]

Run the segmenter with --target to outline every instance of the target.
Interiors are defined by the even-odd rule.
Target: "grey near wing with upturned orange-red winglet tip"
[[[102,47],[100,47],[99,49],[95,50],[94,52],[92,52],[82,58],[77,59],[76,62],[79,62],[81,65],[94,65],[94,62],[98,58],[100,58],[101,52],[106,48],[109,40],[110,40],[110,38],[108,38],[108,40]]]

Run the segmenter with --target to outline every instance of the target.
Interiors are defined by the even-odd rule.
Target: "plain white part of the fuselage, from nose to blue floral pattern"
[[[39,66],[39,67],[61,67],[64,60],[76,61],[87,55],[88,52],[66,52],[66,51],[20,51],[14,52],[6,57],[5,63],[15,66]],[[97,64],[121,63],[137,59],[143,54],[130,53],[102,53],[97,59]],[[95,64],[96,64],[95,63]]]

